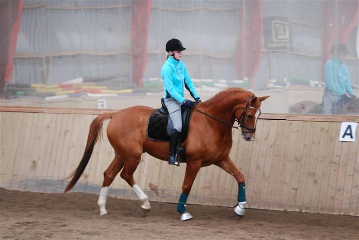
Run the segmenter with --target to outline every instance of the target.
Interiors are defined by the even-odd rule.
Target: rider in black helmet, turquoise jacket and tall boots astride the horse
[[[182,131],[181,105],[185,104],[188,107],[193,107],[194,104],[194,102],[183,97],[183,88],[185,87],[189,91],[196,102],[201,102],[187,68],[181,61],[182,51],[185,49],[178,39],[172,38],[169,40],[166,43],[167,61],[161,69],[165,105],[174,125],[170,137],[170,156],[168,159],[168,164],[172,165],[178,165],[176,161],[176,150]]]

